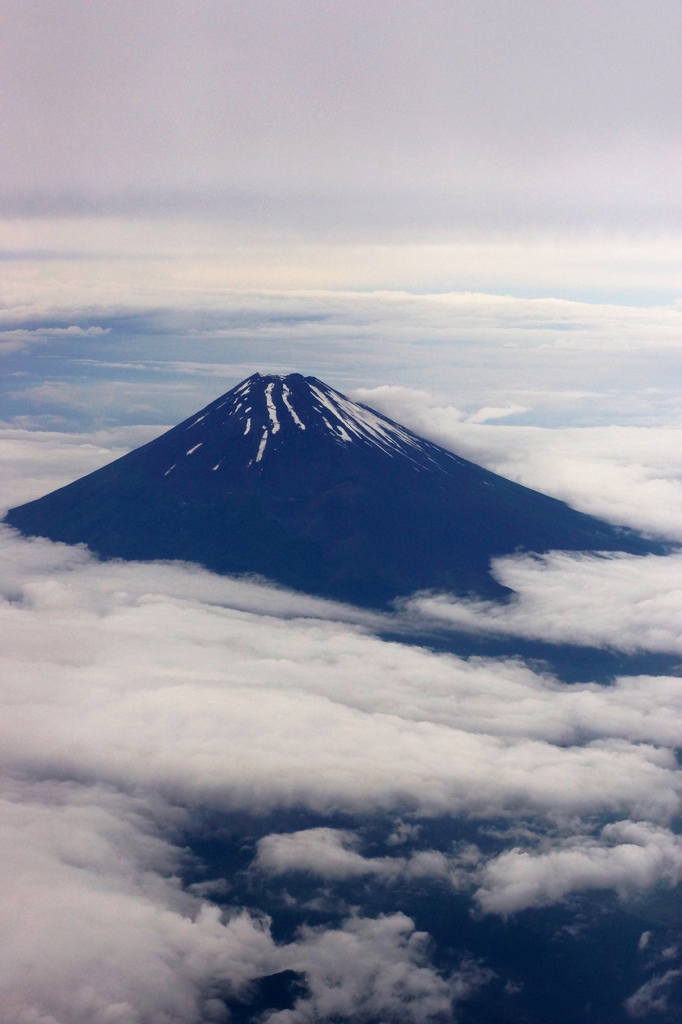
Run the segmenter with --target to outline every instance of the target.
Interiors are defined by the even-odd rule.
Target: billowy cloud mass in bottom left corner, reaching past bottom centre
[[[9,779],[0,804],[7,1024],[222,1021],[225,1000],[292,969],[306,994],[274,1015],[283,1024],[342,1013],[419,1024],[447,1019],[491,977],[472,963],[439,974],[428,936],[402,913],[275,943],[266,918],[225,915],[181,888],[183,853],[168,837],[184,815],[151,795]]]

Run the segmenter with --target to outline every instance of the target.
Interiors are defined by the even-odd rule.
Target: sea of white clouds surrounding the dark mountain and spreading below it
[[[411,400],[426,433],[419,393],[394,397],[366,400],[403,421]],[[513,462],[523,482],[552,467],[555,492],[588,511],[606,499],[585,479],[608,463],[609,493],[620,481],[622,496],[611,519],[666,532],[649,489],[670,467],[659,484],[679,501],[665,429],[645,449],[636,428],[623,428],[586,455],[578,431],[552,431],[543,449],[540,429],[517,428],[512,452],[513,428],[451,421],[436,410],[432,436],[459,432],[467,455],[487,451],[494,468]],[[131,439],[5,430],[6,504],[89,471]],[[636,470],[626,472],[633,443]],[[183,837],[207,809],[329,818],[260,838],[249,870],[263,885],[292,872],[323,886],[418,879],[502,918],[571,894],[629,900],[677,886],[677,675],[566,684],[537,664],[465,659],[414,637],[454,628],[682,653],[680,561],[675,550],[515,557],[496,566],[516,592],[506,605],[426,594],[378,614],[182,563],[100,563],[84,548],[1,527],[4,1019],[217,1021],[254,979],[295,970],[307,988],[275,1014],[282,1024],[353,1014],[422,1022],[489,982],[486,965],[466,956],[455,970],[434,966],[428,937],[403,912],[348,907],[336,925],[283,940],[257,884],[243,906],[215,880],[183,885]],[[392,821],[390,856],[366,848],[361,828],[333,824],[339,814]],[[495,850],[436,847],[419,822],[439,817],[506,821],[507,834]],[[644,988],[633,984],[630,1016],[668,1006],[678,961],[654,964]]]

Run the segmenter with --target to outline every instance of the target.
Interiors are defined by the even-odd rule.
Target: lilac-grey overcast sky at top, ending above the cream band
[[[7,212],[680,226],[674,2],[3,7]]]

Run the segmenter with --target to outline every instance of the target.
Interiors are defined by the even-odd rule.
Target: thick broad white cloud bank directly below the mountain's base
[[[672,752],[625,741],[617,728],[581,739],[576,730],[573,745],[564,746],[517,724],[509,732],[499,725],[485,730],[479,718],[470,731],[447,715],[440,721],[438,698],[429,713],[415,684],[432,671],[457,684],[461,663],[334,622],[325,617],[334,615],[325,602],[304,598],[300,610],[293,608],[305,617],[292,618],[284,592],[182,566],[100,565],[68,548],[58,549],[59,571],[51,549],[47,542],[29,545],[31,557],[48,552],[49,570],[39,568],[23,585],[6,582],[7,766],[28,758],[43,772],[143,781],[189,803],[225,807],[525,807],[553,814],[646,804],[648,813],[666,817],[679,806]],[[202,581],[211,603],[198,599]],[[244,604],[251,610],[241,610]],[[392,672],[402,660],[393,689]],[[406,672],[416,673],[412,693],[400,692]],[[353,695],[349,680],[367,685],[368,674],[377,677],[378,707]],[[662,697],[656,691],[652,699]],[[538,705],[539,718],[547,699]],[[556,730],[555,722],[550,733]],[[666,734],[655,724],[650,731],[656,739]]]

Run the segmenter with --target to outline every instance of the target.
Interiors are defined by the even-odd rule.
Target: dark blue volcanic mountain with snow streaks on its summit
[[[516,551],[663,550],[300,374],[254,374],[6,521],[104,558],[185,559],[377,607],[420,589],[501,597],[491,559]]]

